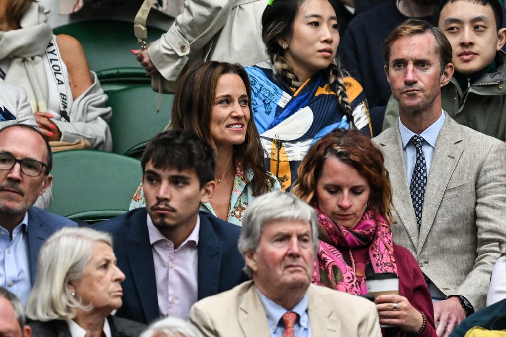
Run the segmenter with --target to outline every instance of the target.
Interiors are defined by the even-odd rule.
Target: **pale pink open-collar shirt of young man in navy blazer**
[[[160,316],[188,318],[191,306],[197,302],[198,232],[200,218],[185,241],[174,249],[147,215],[149,242],[153,252],[156,293]]]

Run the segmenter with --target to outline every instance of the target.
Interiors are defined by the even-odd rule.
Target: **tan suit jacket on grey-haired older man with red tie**
[[[381,336],[376,307],[358,296],[311,284],[308,315],[313,337]],[[253,281],[193,305],[190,321],[204,336],[268,337],[267,315]]]

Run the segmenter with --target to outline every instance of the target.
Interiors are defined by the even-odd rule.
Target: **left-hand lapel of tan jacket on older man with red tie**
[[[270,336],[269,322],[262,302],[258,297],[257,287],[251,281],[242,301],[239,303],[237,314],[239,325],[244,336]],[[313,336],[316,336],[313,334]]]

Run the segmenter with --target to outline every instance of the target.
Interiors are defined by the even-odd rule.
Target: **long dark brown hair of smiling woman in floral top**
[[[239,64],[227,62],[200,62],[186,71],[181,79],[172,108],[172,127],[193,131],[198,137],[216,144],[209,132],[209,122],[216,95],[218,79],[224,74],[236,74],[244,83],[248,96],[248,108],[251,111],[251,89],[246,71]],[[234,160],[239,161],[242,170],[253,170],[252,195],[263,194],[274,184],[274,178],[267,174],[264,167],[265,150],[252,113],[250,114],[246,137],[240,145],[234,145]]]

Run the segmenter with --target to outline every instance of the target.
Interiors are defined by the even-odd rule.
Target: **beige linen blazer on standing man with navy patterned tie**
[[[478,112],[477,112],[478,113]],[[398,124],[373,139],[393,187],[394,241],[446,296],[485,307],[490,274],[506,237],[506,148],[446,114],[439,133],[418,231]]]

